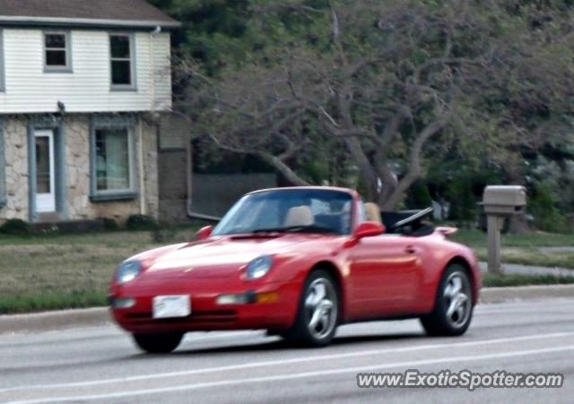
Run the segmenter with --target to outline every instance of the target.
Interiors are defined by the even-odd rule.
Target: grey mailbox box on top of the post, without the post
[[[520,185],[490,185],[484,188],[484,213],[515,215],[526,207],[526,188]]]

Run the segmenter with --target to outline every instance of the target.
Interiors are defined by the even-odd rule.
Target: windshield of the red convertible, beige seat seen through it
[[[235,203],[213,236],[258,232],[351,233],[352,196],[335,190],[251,193]]]

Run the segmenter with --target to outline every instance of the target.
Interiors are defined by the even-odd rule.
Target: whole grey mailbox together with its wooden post
[[[488,271],[502,273],[500,265],[500,229],[504,219],[526,208],[526,188],[520,185],[489,185],[483,193],[488,228]]]

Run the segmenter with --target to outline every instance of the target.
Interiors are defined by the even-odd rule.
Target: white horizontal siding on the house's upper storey
[[[111,90],[109,32],[71,30],[72,73],[45,73],[43,30],[4,28],[0,114],[136,112],[171,107],[170,34],[134,32],[135,90]],[[124,32],[124,31],[117,31]]]

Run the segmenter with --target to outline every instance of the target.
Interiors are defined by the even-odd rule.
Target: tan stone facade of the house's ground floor
[[[131,169],[135,198],[122,201],[91,199],[91,115],[74,114],[59,118],[61,141],[64,142],[65,184],[63,209],[57,219],[81,220],[110,218],[122,222],[138,213],[158,216],[157,126],[144,116],[135,116],[131,126],[133,159]],[[5,219],[30,218],[30,176],[28,139],[30,116],[4,116],[5,199],[0,208],[0,222]],[[0,132],[2,133],[2,132]],[[1,171],[0,171],[1,175]],[[51,217],[51,220],[54,216]]]

